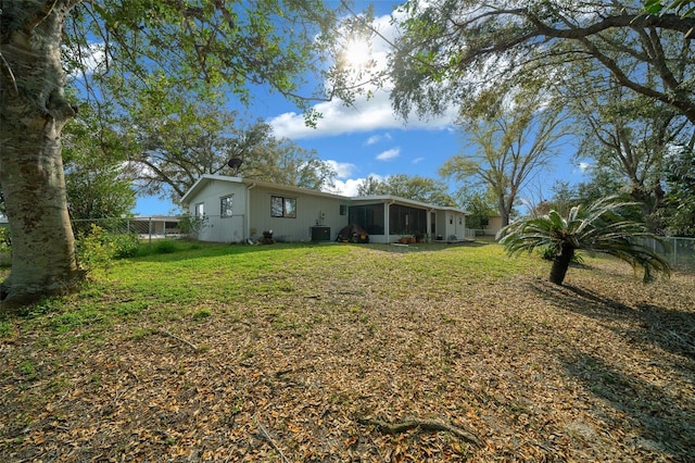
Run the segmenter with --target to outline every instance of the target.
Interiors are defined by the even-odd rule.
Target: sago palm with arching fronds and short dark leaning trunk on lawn
[[[509,255],[536,249],[549,250],[553,266],[549,280],[561,285],[569,264],[578,250],[615,255],[644,271],[645,283],[655,273],[669,275],[669,263],[647,246],[647,239],[656,239],[644,223],[630,218],[633,202],[622,202],[616,197],[598,200],[589,207],[573,207],[567,217],[557,211],[547,215],[515,222],[497,234],[497,239]]]

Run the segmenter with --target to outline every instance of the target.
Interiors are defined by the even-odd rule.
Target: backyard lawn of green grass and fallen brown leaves
[[[695,275],[186,246],[0,318],[0,461],[695,458]]]

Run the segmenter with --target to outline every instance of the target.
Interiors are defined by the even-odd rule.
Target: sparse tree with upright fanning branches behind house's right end
[[[489,114],[462,118],[462,130],[475,151],[451,158],[440,174],[485,185],[507,225],[520,190],[557,154],[565,121],[557,108],[527,92],[485,111]]]

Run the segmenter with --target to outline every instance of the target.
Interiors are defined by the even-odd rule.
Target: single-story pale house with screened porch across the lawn
[[[181,203],[203,220],[202,241],[255,241],[270,230],[277,241],[329,241],[349,224],[367,230],[370,242],[396,242],[405,235],[444,241],[470,237],[466,212],[455,208],[393,196],[350,198],[250,178],[203,175]]]

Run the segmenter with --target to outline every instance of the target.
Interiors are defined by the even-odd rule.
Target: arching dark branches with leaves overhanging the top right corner
[[[591,62],[603,71],[597,83],[608,73],[695,123],[695,50],[688,41],[695,17],[644,14],[629,1],[498,0],[481,7],[473,0],[413,0],[400,12],[405,18],[390,77],[391,100],[403,116],[413,109],[443,113],[452,101],[470,102],[520,83],[556,88],[568,65]],[[571,78],[564,80],[571,85]],[[596,91],[599,85],[581,88]]]

